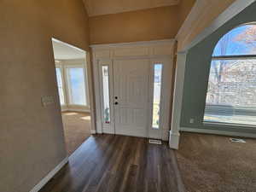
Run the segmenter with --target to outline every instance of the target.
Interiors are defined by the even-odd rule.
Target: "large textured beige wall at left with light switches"
[[[88,49],[81,0],[0,1],[0,191],[28,192],[66,157],[51,37]]]

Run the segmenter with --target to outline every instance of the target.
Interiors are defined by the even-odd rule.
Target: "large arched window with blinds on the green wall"
[[[238,26],[218,41],[204,122],[256,125],[256,25]]]

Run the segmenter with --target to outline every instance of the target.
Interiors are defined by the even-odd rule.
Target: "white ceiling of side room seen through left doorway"
[[[53,39],[52,44],[55,60],[75,60],[84,58],[85,56],[84,50],[65,44],[56,39]]]

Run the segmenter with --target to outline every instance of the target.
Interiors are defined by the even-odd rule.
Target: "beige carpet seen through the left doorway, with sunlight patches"
[[[90,137],[90,113],[62,113],[67,154],[73,152]]]

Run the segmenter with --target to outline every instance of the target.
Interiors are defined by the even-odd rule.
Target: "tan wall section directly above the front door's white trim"
[[[90,44],[111,44],[174,38],[178,6],[138,10],[89,18]]]

